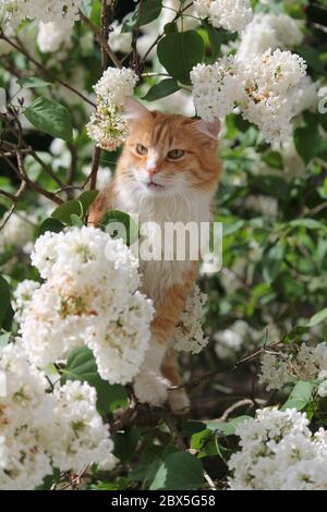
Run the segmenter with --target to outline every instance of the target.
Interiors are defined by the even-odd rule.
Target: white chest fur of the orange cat
[[[132,217],[135,216],[141,227],[148,222],[155,223],[158,227],[157,230],[147,230],[147,246],[152,245],[156,253],[160,244],[161,253],[164,253],[165,225],[171,222],[186,225],[192,222],[199,228],[202,222],[209,222],[211,220],[210,198],[209,194],[201,194],[192,190],[183,196],[160,197],[159,194],[152,196],[144,194],[138,187],[131,185],[129,188],[128,185],[118,190],[114,208],[126,211]],[[141,255],[144,292],[155,302],[160,301],[166,290],[174,284],[183,283],[185,273],[192,265],[189,257],[183,260],[175,257],[171,260],[165,257],[145,260]]]

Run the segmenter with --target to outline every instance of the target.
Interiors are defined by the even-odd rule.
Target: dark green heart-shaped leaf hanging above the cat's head
[[[175,32],[158,44],[158,59],[168,73],[182,84],[191,84],[190,73],[204,59],[205,45],[195,31]]]

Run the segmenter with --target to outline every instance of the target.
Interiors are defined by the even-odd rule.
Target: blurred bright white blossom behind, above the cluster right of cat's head
[[[249,59],[269,49],[295,48],[302,42],[303,34],[299,22],[293,17],[286,14],[257,13],[241,33],[240,39],[238,57]]]

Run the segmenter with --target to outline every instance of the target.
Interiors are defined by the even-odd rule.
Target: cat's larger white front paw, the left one
[[[170,382],[156,371],[144,370],[134,379],[134,393],[141,403],[164,405],[169,388]]]

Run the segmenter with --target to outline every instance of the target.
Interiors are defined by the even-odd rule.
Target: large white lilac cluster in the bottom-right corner
[[[305,414],[264,409],[240,425],[231,455],[232,490],[326,490],[327,431],[315,435]]]

